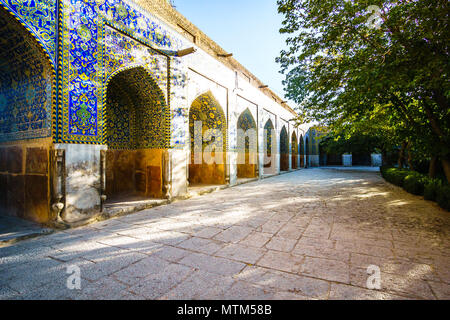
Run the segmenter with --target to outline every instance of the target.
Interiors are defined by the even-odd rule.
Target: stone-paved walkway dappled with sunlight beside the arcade
[[[306,169],[0,248],[0,299],[449,299],[449,239],[377,172]]]

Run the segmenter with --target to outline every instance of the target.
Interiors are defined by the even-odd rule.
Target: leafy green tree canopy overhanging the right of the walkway
[[[278,10],[286,96],[307,118],[333,130],[383,115],[388,139],[424,144],[450,181],[447,0],[278,0]]]

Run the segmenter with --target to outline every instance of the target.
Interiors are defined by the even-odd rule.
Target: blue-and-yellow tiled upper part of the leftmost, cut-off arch
[[[55,90],[42,43],[0,5],[0,142],[49,137]]]

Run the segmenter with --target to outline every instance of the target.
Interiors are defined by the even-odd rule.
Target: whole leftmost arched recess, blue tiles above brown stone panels
[[[44,49],[0,6],[0,214],[51,218],[52,85]]]

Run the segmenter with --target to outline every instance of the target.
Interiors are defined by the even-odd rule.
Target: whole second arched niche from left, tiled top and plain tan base
[[[163,153],[168,146],[167,106],[143,67],[122,71],[106,95],[106,195],[163,197]]]

